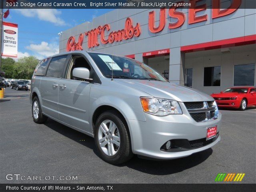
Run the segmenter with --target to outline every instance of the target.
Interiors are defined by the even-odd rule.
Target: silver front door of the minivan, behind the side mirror
[[[92,83],[72,76],[77,67],[88,68],[91,72],[84,56],[72,55],[66,76],[59,82],[59,115],[62,122],[90,132],[88,106]]]

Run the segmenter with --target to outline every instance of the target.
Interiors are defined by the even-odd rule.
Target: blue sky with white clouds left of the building
[[[59,52],[59,32],[86,21],[91,22],[93,18],[110,11],[110,9],[11,9],[8,18],[4,21],[18,24],[18,58],[35,56],[42,59]]]

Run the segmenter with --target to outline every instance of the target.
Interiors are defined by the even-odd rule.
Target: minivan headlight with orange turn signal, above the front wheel
[[[166,116],[169,114],[182,114],[180,105],[175,100],[141,97],[140,102],[144,112],[152,115]]]

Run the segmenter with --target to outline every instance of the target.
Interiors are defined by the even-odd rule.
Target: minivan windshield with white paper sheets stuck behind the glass
[[[167,81],[156,70],[134,59],[101,53],[88,54],[107,78],[113,75],[113,78]]]

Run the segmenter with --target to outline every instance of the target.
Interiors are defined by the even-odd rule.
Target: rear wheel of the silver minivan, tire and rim
[[[32,117],[34,122],[38,124],[43,124],[47,120],[47,117],[42,114],[40,102],[37,97],[32,101]]]

